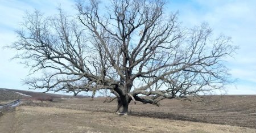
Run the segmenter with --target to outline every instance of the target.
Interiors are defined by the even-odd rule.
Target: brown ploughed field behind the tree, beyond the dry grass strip
[[[104,98],[59,99],[54,102],[30,102],[30,106],[48,106],[63,109],[104,111],[114,113],[117,103],[103,103]],[[256,96],[211,96],[206,102],[163,100],[161,106],[133,102],[130,115],[192,122],[215,123],[256,128]]]

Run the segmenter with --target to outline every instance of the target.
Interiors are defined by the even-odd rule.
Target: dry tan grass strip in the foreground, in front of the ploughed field
[[[18,106],[0,122],[0,132],[256,132],[237,126],[38,106]]]

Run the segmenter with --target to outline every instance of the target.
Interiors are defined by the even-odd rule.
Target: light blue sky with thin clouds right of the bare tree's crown
[[[237,88],[229,93],[256,94],[256,1],[178,1],[170,2],[170,10],[179,10],[180,20],[187,27],[208,22],[215,34],[232,37],[240,47],[226,63]],[[248,85],[250,84],[250,85]]]

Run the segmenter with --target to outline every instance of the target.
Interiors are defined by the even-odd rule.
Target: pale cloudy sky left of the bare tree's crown
[[[15,29],[19,28],[19,23],[23,20],[25,11],[32,12],[41,10],[45,15],[57,14],[56,7],[61,3],[61,7],[67,12],[73,12],[72,1],[31,1],[31,0],[9,0],[1,1],[0,5],[0,88],[27,89],[22,84],[29,70],[18,63],[18,60],[10,61],[16,54],[15,50],[2,49],[3,46],[10,45],[16,40]],[[38,90],[37,90],[38,91]]]

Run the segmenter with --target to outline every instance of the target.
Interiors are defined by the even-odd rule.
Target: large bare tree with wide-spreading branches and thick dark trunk
[[[19,40],[9,48],[15,58],[42,72],[26,79],[32,89],[91,91],[106,89],[126,114],[131,100],[159,105],[168,98],[197,96],[229,83],[223,59],[236,47],[230,38],[212,38],[207,24],[183,28],[177,14],[164,12],[162,0],[79,1],[78,14],[45,17],[27,13]],[[113,99],[112,99],[113,101]]]

